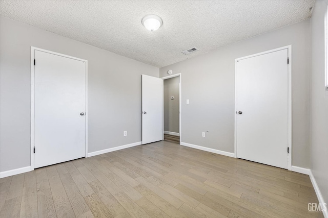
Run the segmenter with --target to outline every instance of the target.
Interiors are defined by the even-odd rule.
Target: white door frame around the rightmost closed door
[[[252,58],[259,55],[264,55],[272,52],[277,52],[280,50],[288,49],[288,169],[292,170],[292,45],[287,45],[279,47],[278,49],[273,49],[266,52],[257,53],[254,55],[245,56],[242,58],[235,59],[235,158],[237,158],[237,62],[239,60]],[[286,60],[287,61],[287,60]]]

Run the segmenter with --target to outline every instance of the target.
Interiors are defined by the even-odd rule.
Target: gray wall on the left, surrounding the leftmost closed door
[[[157,67],[1,17],[0,172],[30,166],[31,46],[88,60],[89,153],[141,141],[140,75]]]

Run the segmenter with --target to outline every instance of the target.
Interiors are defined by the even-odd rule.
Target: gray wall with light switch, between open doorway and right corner
[[[290,44],[293,53],[292,164],[309,168],[310,20],[160,68],[160,77],[166,76],[169,69],[174,74],[182,74],[182,142],[234,152],[234,59]],[[201,137],[201,132],[207,130],[206,137]]]

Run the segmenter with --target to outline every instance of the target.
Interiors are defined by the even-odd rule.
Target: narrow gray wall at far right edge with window
[[[311,170],[328,203],[328,91],[324,90],[324,14],[328,1],[316,1],[311,17]]]

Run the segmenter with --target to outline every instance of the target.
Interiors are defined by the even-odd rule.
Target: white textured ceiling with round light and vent
[[[0,15],[157,67],[311,16],[314,0],[0,1]],[[163,26],[146,30],[156,14]],[[200,51],[184,55],[183,50]]]

